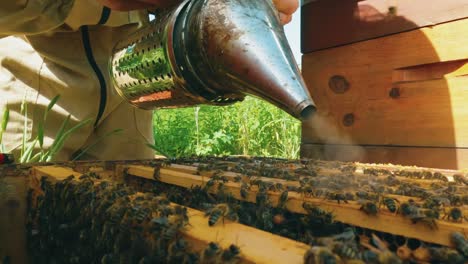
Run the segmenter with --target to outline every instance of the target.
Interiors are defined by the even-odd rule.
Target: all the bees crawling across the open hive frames
[[[197,164],[200,173],[215,173],[204,186],[189,189],[136,177],[126,177],[126,184],[101,180],[93,174],[55,183],[42,178],[44,193],[36,201],[31,196],[29,209],[28,234],[34,262],[239,262],[242,246],[236,244],[223,249],[211,242],[201,252],[191,249],[181,235],[190,225],[184,206],[205,211],[209,226],[238,221],[309,244],[304,263],[416,262],[401,257],[399,250],[406,247],[427,249],[430,258],[426,262],[430,263],[468,261],[468,241],[460,233],[451,237],[454,248],[422,242],[414,246],[415,243],[406,238],[337,222],[333,212],[306,200],[302,204],[306,214],[290,212],[286,206],[289,194],[297,192],[303,197],[328,202],[358,203],[368,215],[385,210],[435,229],[435,219],[466,221],[463,209],[468,192],[464,178],[454,176],[449,181],[435,173],[385,170],[358,173],[355,166],[342,163],[293,163],[276,159],[172,162]],[[324,169],[340,173],[322,176]],[[226,177],[222,171],[242,176]],[[260,177],[282,179],[287,183],[264,181]],[[431,179],[433,183],[422,186],[406,181],[415,179]],[[244,200],[235,199],[227,191],[228,182],[239,184],[239,194]],[[279,194],[278,202],[270,200],[271,192]],[[250,196],[255,196],[255,203],[247,201]],[[407,196],[411,196],[410,199],[405,199]]]

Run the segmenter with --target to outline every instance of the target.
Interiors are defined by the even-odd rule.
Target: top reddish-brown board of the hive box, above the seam
[[[301,12],[302,52],[309,53],[466,18],[468,1],[318,0]]]

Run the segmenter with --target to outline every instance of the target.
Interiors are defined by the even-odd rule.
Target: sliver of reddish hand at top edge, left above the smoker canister
[[[96,0],[104,6],[117,11],[130,11],[151,9],[155,7],[168,7],[178,4],[182,0]]]

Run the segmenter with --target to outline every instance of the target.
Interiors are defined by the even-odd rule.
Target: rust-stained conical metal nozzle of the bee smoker
[[[315,112],[271,0],[192,1],[186,63],[212,89],[251,94],[299,119]]]

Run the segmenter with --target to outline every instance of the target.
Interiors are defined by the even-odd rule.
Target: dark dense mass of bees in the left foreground
[[[194,252],[182,237],[187,208],[124,184],[73,176],[30,191],[28,243],[33,263],[236,263],[236,245]]]

